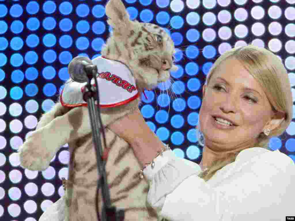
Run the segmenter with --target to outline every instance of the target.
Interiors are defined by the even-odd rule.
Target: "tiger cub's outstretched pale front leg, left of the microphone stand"
[[[30,170],[45,170],[62,145],[88,133],[91,133],[88,108],[73,108],[27,138],[19,149],[20,163]]]

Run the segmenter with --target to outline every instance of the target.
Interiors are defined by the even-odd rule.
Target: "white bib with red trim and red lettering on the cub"
[[[99,106],[109,108],[127,104],[138,98],[135,79],[130,69],[119,61],[97,57],[92,60],[97,66],[97,82],[99,85]],[[65,83],[60,95],[60,103],[67,107],[87,106],[83,100],[83,88],[87,83]],[[91,85],[95,85],[94,79]]]

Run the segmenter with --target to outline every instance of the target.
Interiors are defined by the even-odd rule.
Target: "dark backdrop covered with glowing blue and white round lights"
[[[100,56],[112,31],[106,2],[0,0],[0,220],[36,221],[64,193],[66,144],[42,172],[21,168],[12,153],[57,101],[73,57]],[[217,57],[233,47],[252,43],[281,57],[295,100],[294,1],[123,2],[132,20],[158,24],[175,44],[178,70],[145,91],[139,108],[150,129],[178,157],[201,161],[196,126],[202,87]],[[271,138],[269,148],[295,161],[294,138],[293,120],[282,138]]]

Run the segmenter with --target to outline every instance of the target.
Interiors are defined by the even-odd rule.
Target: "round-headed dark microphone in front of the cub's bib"
[[[68,72],[73,81],[84,83],[96,76],[97,67],[88,57],[77,56],[69,63]]]

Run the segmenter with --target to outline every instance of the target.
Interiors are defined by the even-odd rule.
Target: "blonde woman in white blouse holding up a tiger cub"
[[[147,201],[160,216],[285,220],[295,216],[295,165],[268,142],[289,126],[292,105],[282,62],[248,45],[225,52],[207,75],[197,128],[204,140],[200,165],[176,157],[139,110],[109,128],[132,145],[150,181]]]

